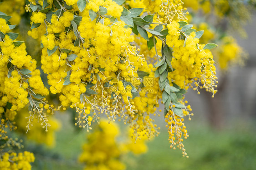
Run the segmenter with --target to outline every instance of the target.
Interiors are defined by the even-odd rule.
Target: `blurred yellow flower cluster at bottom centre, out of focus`
[[[147,137],[138,140],[137,143],[129,137],[127,141],[120,143],[117,142],[118,135],[118,126],[114,123],[108,124],[108,121],[101,121],[98,127],[94,128],[93,133],[87,136],[87,142],[79,156],[79,161],[85,164],[84,170],[124,170],[123,154],[128,151],[134,154],[147,151]]]

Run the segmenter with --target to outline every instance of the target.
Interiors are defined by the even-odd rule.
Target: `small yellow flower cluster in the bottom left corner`
[[[0,156],[1,170],[31,170],[31,162],[34,162],[33,153],[25,151],[23,153],[11,152]]]

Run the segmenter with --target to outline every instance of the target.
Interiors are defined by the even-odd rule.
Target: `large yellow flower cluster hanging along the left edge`
[[[0,19],[0,31],[5,33],[8,31],[7,27],[9,28],[5,19]],[[37,112],[40,117],[44,117],[43,124],[46,125],[46,115],[39,110],[39,105],[44,105],[45,102],[37,99],[47,96],[49,91],[41,80],[40,70],[36,69],[36,60],[27,55],[25,43],[16,45],[15,43],[20,42],[10,39],[9,35],[12,37],[15,33],[5,34],[5,38],[0,42],[0,116],[5,117],[2,118],[1,124],[5,128],[9,126],[13,129],[10,121],[13,120],[15,111],[19,111],[30,102],[30,120]],[[5,131],[2,133],[5,134]]]

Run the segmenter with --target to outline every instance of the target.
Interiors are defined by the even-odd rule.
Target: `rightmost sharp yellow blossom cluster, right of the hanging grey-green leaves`
[[[203,49],[204,44],[199,44],[199,39],[195,38],[195,32],[192,32],[184,42],[179,39],[179,24],[172,22],[168,24],[169,35],[166,37],[166,44],[173,49],[172,67],[173,72],[169,73],[169,78],[181,88],[189,88],[191,83],[195,82],[196,87],[202,87],[206,91],[217,92],[215,62],[209,49]],[[195,89],[197,90],[197,88]],[[200,93],[200,92],[199,92]]]

